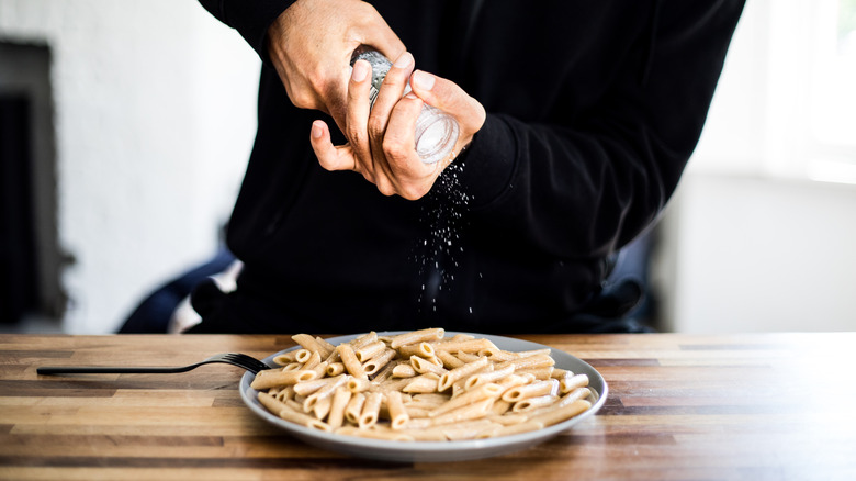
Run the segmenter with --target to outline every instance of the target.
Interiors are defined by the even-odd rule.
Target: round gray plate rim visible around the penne
[[[381,336],[386,336],[398,333],[384,332],[378,334]],[[459,333],[447,332],[447,335],[454,334]],[[475,337],[491,339],[491,342],[493,342],[500,349],[511,351],[543,349],[548,347],[541,344],[514,339],[510,337],[491,336],[484,334],[472,335]],[[334,345],[339,345],[341,343],[347,343],[358,336],[359,335],[333,337],[328,338],[327,342]],[[275,356],[296,348],[299,348],[299,346],[273,354],[264,358],[264,362],[269,366],[274,366],[273,358]],[[543,429],[489,439],[454,441],[391,441],[365,439],[354,436],[345,436],[311,429],[284,421],[266,410],[264,406],[259,403],[258,391],[250,388],[250,383],[252,382],[255,376],[249,372],[246,372],[240,379],[240,396],[244,399],[244,402],[247,404],[247,406],[249,406],[254,413],[256,413],[264,421],[283,428],[294,437],[322,449],[343,452],[361,458],[404,462],[444,462],[468,459],[482,459],[518,451],[532,447],[539,443],[543,443],[559,433],[570,428],[574,424],[585,420],[586,417],[594,415],[604,405],[608,389],[606,381],[604,381],[604,377],[600,376],[600,373],[597,372],[595,368],[589,366],[587,362],[559,349],[551,349],[551,356],[553,359],[555,359],[555,367],[571,370],[577,374],[582,373],[588,376],[588,387],[594,391],[594,394],[588,399],[592,401],[592,409],[576,417],[555,424],[553,426],[545,427]]]

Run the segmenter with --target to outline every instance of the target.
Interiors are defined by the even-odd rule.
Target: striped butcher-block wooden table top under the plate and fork
[[[518,336],[606,378],[597,416],[517,454],[394,463],[307,446],[244,406],[238,368],[40,377],[45,365],[257,357],[289,336],[0,336],[0,479],[856,479],[856,333]]]

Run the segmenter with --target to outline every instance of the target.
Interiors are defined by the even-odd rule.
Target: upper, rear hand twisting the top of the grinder
[[[342,132],[351,54],[360,45],[388,58],[405,52],[378,11],[359,0],[297,0],[268,30],[271,61],[289,99],[331,115]]]

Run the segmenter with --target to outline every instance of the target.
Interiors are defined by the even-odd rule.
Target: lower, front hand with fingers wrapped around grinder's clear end
[[[341,128],[348,144],[334,146],[323,121],[312,125],[312,147],[322,167],[360,172],[385,195],[416,200],[428,193],[443,169],[482,128],[486,114],[482,104],[455,83],[414,71],[414,66],[409,53],[398,56],[370,109],[371,67],[365,60],[353,65]],[[413,91],[402,97],[408,80]],[[414,131],[424,103],[453,116],[461,130],[452,154],[436,164],[424,164],[416,154]]]

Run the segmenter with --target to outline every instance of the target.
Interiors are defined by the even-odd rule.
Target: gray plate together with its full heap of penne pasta
[[[322,338],[246,372],[258,416],[319,448],[405,462],[532,447],[594,415],[607,384],[567,353],[511,337],[426,328]]]

